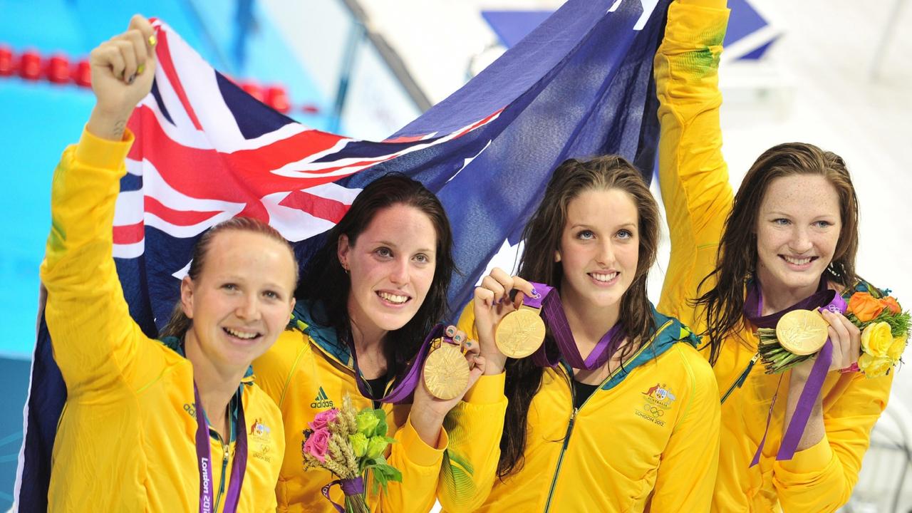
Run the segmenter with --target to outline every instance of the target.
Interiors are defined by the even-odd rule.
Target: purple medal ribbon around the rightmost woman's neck
[[[763,299],[760,294],[760,286],[754,281],[753,288],[749,290],[747,298],[744,300],[744,316],[758,328],[774,329],[776,323],[779,322],[779,319],[782,319],[783,315],[795,309],[828,309],[834,313],[844,313],[846,307],[845,299],[834,290],[827,288],[825,278],[821,277],[817,291],[809,298],[805,298],[787,309],[761,316]],[[756,314],[754,315],[752,312],[756,312]],[[785,434],[782,435],[782,443],[779,445],[779,452],[776,454],[777,461],[790,460],[794,457],[798,442],[801,441],[801,437],[804,434],[804,428],[807,427],[807,421],[811,418],[811,412],[814,410],[817,396],[820,395],[824,388],[824,380],[830,370],[831,363],[833,363],[833,342],[827,338],[824,342],[824,347],[817,353],[814,366],[811,368],[811,374],[808,376],[807,382],[804,382],[804,388],[792,414],[792,420],[785,429]],[[779,383],[782,383],[782,376],[779,378]],[[772,408],[775,406],[776,397],[778,396],[779,385],[777,384],[776,393],[773,394],[772,403],[770,403],[770,411],[766,415],[766,428],[763,430],[763,437],[757,447],[757,452],[754,453],[751,460],[751,466],[760,463],[763,445],[766,443],[766,434],[770,431]]]

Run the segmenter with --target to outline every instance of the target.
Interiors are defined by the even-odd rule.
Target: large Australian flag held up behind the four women
[[[154,337],[207,228],[248,215],[306,257],[365,184],[405,173],[440,197],[470,298],[488,261],[515,245],[554,167],[623,155],[651,176],[658,142],[652,58],[668,0],[570,0],[450,98],[385,141],[315,131],[271,110],[156,22],[155,84],[130,120],[114,257],[130,313]],[[66,386],[41,319],[14,510],[45,511]]]

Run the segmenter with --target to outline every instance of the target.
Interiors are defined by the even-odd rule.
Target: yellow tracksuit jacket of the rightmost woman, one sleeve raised
[[[697,332],[702,311],[693,309],[700,279],[715,265],[732,191],[721,154],[718,66],[728,11],[724,0],[671,5],[665,40],[656,56],[661,103],[659,179],[668,216],[671,257],[658,308]],[[705,287],[705,286],[704,286]],[[710,284],[711,287],[711,284]],[[745,330],[725,340],[714,366],[720,391],[735,382],[756,353],[757,340]],[[709,356],[709,351],[705,351]],[[824,382],[824,439],[775,461],[782,440],[788,380],[780,397],[760,464],[749,467],[766,424],[779,376],[756,365],[747,381],[722,405],[719,476],[713,511],[834,511],[851,495],[871,428],[886,407],[892,375],[867,379],[861,373],[831,372]]]

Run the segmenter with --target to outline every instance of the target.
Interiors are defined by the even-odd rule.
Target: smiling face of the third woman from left
[[[619,309],[637,275],[638,257],[637,204],[630,194],[590,189],[570,201],[555,256],[568,306]]]

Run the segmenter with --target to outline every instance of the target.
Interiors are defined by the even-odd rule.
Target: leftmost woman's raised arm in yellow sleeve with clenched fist
[[[130,318],[111,253],[119,179],[133,141],[127,120],[151,89],[153,34],[145,18],[134,16],[127,32],[92,51],[96,105],[54,173],[41,280],[55,360],[70,396],[119,380],[145,340]]]

